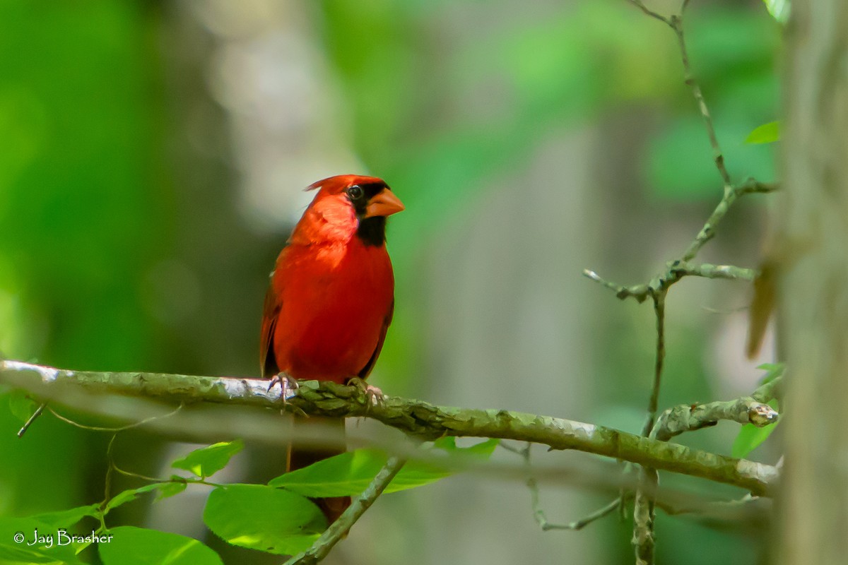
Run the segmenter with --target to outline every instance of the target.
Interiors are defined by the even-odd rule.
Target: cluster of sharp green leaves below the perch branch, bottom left
[[[441,438],[427,446],[427,451],[441,451],[444,461],[422,463],[411,461],[395,477],[386,492],[428,485],[455,473],[468,458],[488,458],[498,440],[485,440],[473,446],[460,447],[453,437]],[[101,507],[99,504],[70,508],[59,512],[42,513],[29,518],[0,518],[0,529],[24,532],[32,537],[38,529],[42,534],[59,529],[71,529],[84,518],[96,518],[100,523],[115,508],[137,500],[140,496],[159,490],[156,500],[176,496],[189,483],[204,483],[210,474],[226,467],[231,457],[243,449],[241,440],[216,443],[192,451],[172,465],[186,469],[198,479],[172,476],[170,481],[123,490]],[[248,547],[277,555],[304,551],[326,529],[324,514],[307,496],[359,495],[385,465],[382,451],[360,449],[314,463],[271,480],[270,485],[220,485],[209,494],[204,508],[204,522],[221,539],[234,546]],[[277,488],[282,487],[282,488]],[[109,542],[98,543],[104,565],[113,563],[219,563],[215,551],[198,540],[181,535],[119,526],[96,530],[98,535],[112,535]],[[30,533],[30,534],[26,534]],[[75,554],[89,543],[70,544],[60,549],[42,545],[26,546],[14,540],[0,540],[0,559],[21,562],[80,562]]]

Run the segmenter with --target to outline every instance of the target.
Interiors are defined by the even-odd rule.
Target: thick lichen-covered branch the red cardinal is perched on
[[[0,382],[53,402],[61,402],[63,394],[73,389],[159,398],[174,403],[223,402],[340,418],[373,418],[424,440],[455,435],[530,441],[552,449],[587,451],[735,485],[756,496],[770,496],[778,482],[778,470],[771,465],[723,457],[617,429],[506,410],[439,407],[397,396],[385,396],[383,402],[375,405],[370,404],[365,393],[355,386],[326,382],[301,382],[297,393],[283,402],[279,387],[268,391],[268,381],[262,379],[95,373],[17,361],[0,364]],[[91,406],[96,411],[97,403],[92,402]]]

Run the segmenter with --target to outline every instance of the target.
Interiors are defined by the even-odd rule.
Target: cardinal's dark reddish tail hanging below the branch
[[[320,430],[320,440],[310,439],[310,426]],[[286,472],[309,467],[312,463],[347,451],[344,439],[344,418],[304,418],[294,416],[292,434],[295,440],[288,444]],[[305,431],[304,431],[305,430]],[[298,439],[298,436],[303,439]],[[312,498],[311,501],[324,512],[327,523],[333,523],[350,506],[350,496]]]

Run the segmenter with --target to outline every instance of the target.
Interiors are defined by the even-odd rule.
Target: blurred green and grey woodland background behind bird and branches
[[[624,0],[8,0],[0,22],[6,357],[255,376],[267,275],[309,202],[301,188],[375,174],[407,210],[389,225],[397,307],[374,384],[638,432],[653,313],[581,271],[648,280],[722,188],[661,23]],[[773,180],[773,147],[744,140],[777,118],[778,23],[760,0],[696,1],[686,32],[734,180]],[[755,267],[767,206],[739,202],[701,258]],[[768,347],[744,359],[749,292],[709,280],[672,289],[661,407],[752,389],[756,364],[772,359]],[[103,498],[109,435],[51,415],[23,440],[19,427],[0,402],[0,514]],[[683,442],[729,453],[735,432],[721,424]],[[167,476],[191,448],[142,430],[119,435],[115,456]],[[551,520],[614,494],[558,479],[558,465],[589,458],[534,451],[554,470],[541,492]],[[228,479],[280,471],[270,447],[239,461]],[[501,450],[494,461],[521,465]],[[125,480],[115,488],[137,485]],[[227,562],[279,562],[215,541],[204,495],[136,502],[111,525],[193,535]],[[756,562],[764,543],[762,524],[665,515],[657,535],[660,562]],[[616,563],[630,561],[629,540],[614,517],[543,533],[520,473],[464,474],[382,498],[326,562]]]

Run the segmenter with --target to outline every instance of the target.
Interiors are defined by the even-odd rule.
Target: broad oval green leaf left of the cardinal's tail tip
[[[265,485],[226,485],[209,493],[209,529],[233,546],[276,555],[306,550],[326,529],[324,514],[309,499]]]

